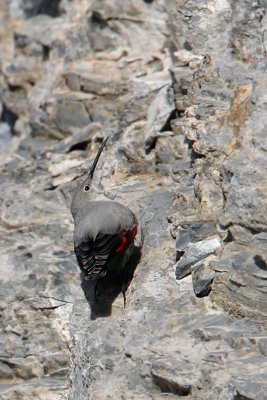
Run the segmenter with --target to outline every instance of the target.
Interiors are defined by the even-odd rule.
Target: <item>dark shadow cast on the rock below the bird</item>
[[[112,314],[112,304],[120,293],[125,296],[141,255],[141,246],[134,246],[121,273],[107,272],[105,277],[97,281],[86,280],[85,276],[81,274],[81,288],[90,305],[92,320],[109,317]]]

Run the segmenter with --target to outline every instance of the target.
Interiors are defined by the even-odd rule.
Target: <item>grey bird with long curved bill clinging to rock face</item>
[[[134,249],[138,221],[128,207],[107,198],[103,189],[94,184],[94,172],[108,139],[109,136],[103,140],[86,178],[73,194],[74,252],[85,279],[96,280],[96,301],[99,279],[107,273],[121,277],[125,307],[128,286],[123,276]]]

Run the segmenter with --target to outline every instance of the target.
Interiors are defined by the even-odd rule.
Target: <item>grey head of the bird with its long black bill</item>
[[[94,159],[94,162],[92,164],[92,167],[91,167],[86,179],[84,179],[82,181],[82,183],[80,183],[77,186],[77,188],[75,190],[75,193],[73,195],[72,202],[71,202],[71,213],[72,213],[73,218],[75,218],[78,211],[84,205],[86,205],[89,201],[96,200],[98,191],[96,191],[96,188],[92,186],[92,181],[93,181],[93,176],[94,176],[94,172],[95,172],[98,160],[99,160],[100,155],[108,141],[108,138],[109,137],[107,136],[106,139],[103,141],[100,149],[98,150],[96,158]]]

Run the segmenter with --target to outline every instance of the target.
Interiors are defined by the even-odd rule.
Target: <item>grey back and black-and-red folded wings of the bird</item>
[[[80,268],[90,279],[104,276],[111,263],[133,242],[137,220],[115,201],[91,201],[75,218],[74,250]]]

